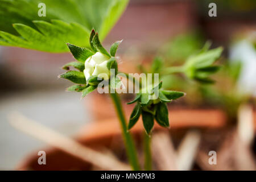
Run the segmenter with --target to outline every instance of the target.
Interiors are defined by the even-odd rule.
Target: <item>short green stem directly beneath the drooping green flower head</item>
[[[143,144],[144,144],[144,169],[146,171],[151,171],[152,169],[150,141],[151,141],[150,136],[147,135],[145,132],[143,137]]]

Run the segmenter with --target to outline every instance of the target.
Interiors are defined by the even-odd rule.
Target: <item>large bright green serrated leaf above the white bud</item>
[[[101,35],[100,40],[104,40],[125,10],[127,2],[127,0],[0,0],[0,31],[19,38],[21,31],[23,35],[26,33],[22,30],[24,27],[18,27],[19,31],[15,30],[12,24],[18,23],[43,35],[31,34],[33,37],[29,39],[32,40],[26,40],[21,35],[23,42],[19,42],[20,40],[16,38],[18,42],[14,39],[9,42],[0,35],[0,44],[47,52],[68,52],[65,46],[68,42],[89,48],[90,30],[95,28]],[[46,4],[45,17],[38,16],[39,3]]]

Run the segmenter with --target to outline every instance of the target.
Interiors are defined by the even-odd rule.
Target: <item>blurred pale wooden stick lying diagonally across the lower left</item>
[[[113,156],[102,154],[101,152],[94,151],[82,144],[76,142],[73,139],[65,137],[64,135],[57,133],[56,131],[49,129],[46,126],[41,125],[38,122],[32,121],[24,117],[19,113],[12,113],[9,115],[10,124],[16,129],[23,131],[26,134],[31,135],[43,142],[50,144],[53,147],[59,148],[91,163],[94,166],[106,169],[106,170],[130,170],[131,168],[115,159]]]

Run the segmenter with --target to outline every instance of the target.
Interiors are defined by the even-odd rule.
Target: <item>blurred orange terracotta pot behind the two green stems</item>
[[[187,129],[188,127],[221,128],[225,126],[225,114],[220,110],[174,110],[170,113],[170,126],[172,131]],[[154,131],[168,130],[155,124]],[[138,146],[141,146],[139,135],[142,133],[142,121],[131,129]],[[121,139],[121,130],[117,118],[105,119],[102,122],[92,122],[84,126],[77,134],[76,140],[86,146],[98,149],[108,148],[114,153],[125,158],[124,147]],[[90,164],[83,162],[75,156],[69,155],[55,148],[40,149],[46,151],[47,165],[38,164],[38,151],[28,155],[17,167],[23,170],[90,170]],[[119,156],[120,157],[120,156]]]

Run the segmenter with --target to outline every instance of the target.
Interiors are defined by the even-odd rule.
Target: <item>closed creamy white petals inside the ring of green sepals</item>
[[[101,52],[96,52],[94,55],[86,59],[84,66],[84,76],[86,80],[90,76],[97,76],[108,80],[110,77],[110,71],[107,68],[109,57]]]

